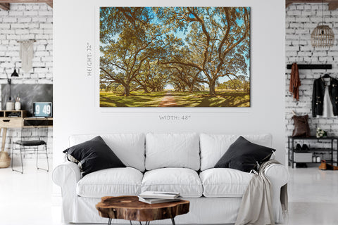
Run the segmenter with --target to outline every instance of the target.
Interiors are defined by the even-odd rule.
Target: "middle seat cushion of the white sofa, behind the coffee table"
[[[148,171],[142,180],[143,191],[178,192],[184,198],[202,195],[202,183],[196,171],[187,168],[162,168]]]

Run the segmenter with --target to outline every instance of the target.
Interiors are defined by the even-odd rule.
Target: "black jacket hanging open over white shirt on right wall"
[[[323,115],[323,101],[325,94],[325,81],[322,77],[315,79],[312,95],[312,116]],[[329,86],[330,100],[333,115],[338,115],[338,80],[331,78]]]

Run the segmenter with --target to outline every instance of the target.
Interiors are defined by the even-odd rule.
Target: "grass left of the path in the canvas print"
[[[157,107],[167,92],[144,94],[132,91],[130,96],[100,91],[100,107]]]

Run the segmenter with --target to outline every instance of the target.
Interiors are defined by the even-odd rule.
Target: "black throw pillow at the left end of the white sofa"
[[[63,151],[71,162],[78,162],[82,177],[100,169],[125,167],[101,136]]]

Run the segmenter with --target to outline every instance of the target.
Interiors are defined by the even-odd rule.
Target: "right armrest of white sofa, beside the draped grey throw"
[[[281,164],[272,164],[265,168],[265,176],[268,177],[272,188],[273,212],[276,223],[283,223],[282,205],[280,203],[280,188],[289,181],[287,167]]]

